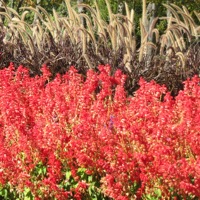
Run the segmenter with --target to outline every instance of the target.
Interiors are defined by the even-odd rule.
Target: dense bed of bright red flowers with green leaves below
[[[173,98],[100,65],[50,81],[11,63],[0,71],[4,199],[198,199],[200,78]]]

